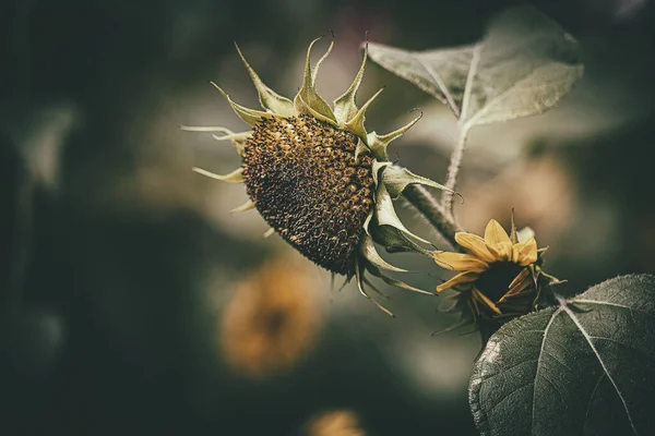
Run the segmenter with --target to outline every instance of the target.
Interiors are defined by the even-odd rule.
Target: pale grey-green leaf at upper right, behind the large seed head
[[[545,112],[583,71],[577,43],[529,7],[499,15],[473,46],[408,51],[369,43],[369,56],[448,105],[465,129]]]

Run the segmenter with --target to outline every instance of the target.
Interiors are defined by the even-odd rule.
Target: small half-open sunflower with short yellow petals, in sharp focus
[[[441,292],[455,288],[467,292],[475,316],[508,319],[531,312],[538,296],[537,241],[519,241],[514,226],[511,237],[495,219],[485,229],[485,238],[460,232],[455,241],[468,253],[434,252],[443,268],[457,271],[437,287]]]

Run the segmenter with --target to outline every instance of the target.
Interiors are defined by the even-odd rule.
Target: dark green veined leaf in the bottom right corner
[[[650,435],[655,276],[618,277],[501,327],[475,364],[483,435]]]

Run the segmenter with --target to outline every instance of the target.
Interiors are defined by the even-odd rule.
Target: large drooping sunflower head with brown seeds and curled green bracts
[[[365,113],[382,92],[376,93],[361,108],[357,107],[355,96],[364,76],[367,46],[353,84],[334,100],[333,108],[319,96],[314,88],[317,74],[334,46],[333,40],[312,69],[310,55],[319,39],[309,46],[302,85],[294,100],[267,87],[237,46],[264,110],[240,106],[212,84],[252,130],[234,133],[224,128],[182,129],[219,132],[223,135],[214,134],[217,141],[234,143],[242,159],[240,168],[226,175],[200,168],[194,171],[226,182],[243,183],[250,199],[235,211],[257,208],[271,226],[265,235],[279,234],[314,264],[334,275],[346,276],[346,281],[356,277],[359,291],[389,313],[367,293],[365,283],[376,288],[365,272],[400,288],[430,293],[382,272],[406,270],[382,259],[376,243],[390,252],[431,255],[415,242],[428,241],[401,222],[393,199],[414,183],[445,187],[389,160],[389,144],[401,137],[420,116],[388,134],[366,131]]]

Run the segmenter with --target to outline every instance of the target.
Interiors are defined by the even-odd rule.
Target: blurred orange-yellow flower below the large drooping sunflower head
[[[261,378],[294,367],[317,339],[322,313],[309,269],[265,264],[237,284],[221,322],[221,349],[236,372]]]

